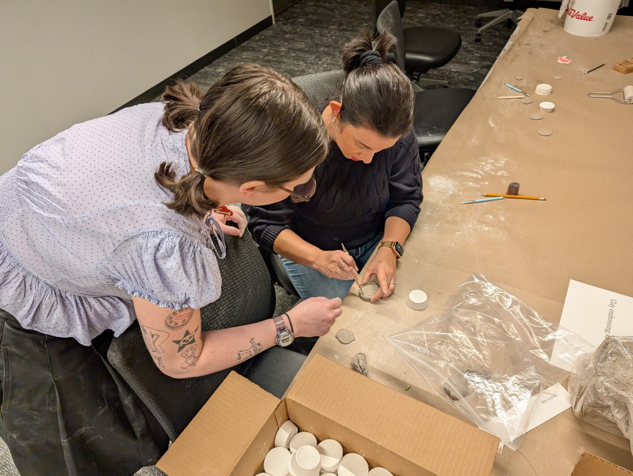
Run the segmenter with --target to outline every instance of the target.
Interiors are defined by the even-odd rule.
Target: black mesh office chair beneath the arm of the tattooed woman
[[[248,231],[242,238],[225,236],[225,244],[227,255],[218,260],[222,295],[201,308],[203,331],[260,322],[272,317],[275,308],[270,274]],[[154,364],[135,321],[113,339],[108,361],[174,441],[231,370],[280,398],[307,353],[274,346],[232,369],[202,377],[172,379]]]

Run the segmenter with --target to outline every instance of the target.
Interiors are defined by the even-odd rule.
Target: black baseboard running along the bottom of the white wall
[[[136,106],[137,104],[143,104],[144,102],[153,101],[154,98],[158,97],[158,95],[160,95],[163,92],[163,90],[165,90],[166,85],[172,84],[174,80],[176,79],[189,78],[189,76],[193,75],[194,73],[197,73],[205,66],[209,66],[209,64],[213,63],[213,61],[227,54],[229,51],[231,51],[235,47],[240,46],[246,40],[253,38],[256,34],[261,32],[262,30],[265,30],[266,28],[272,26],[272,24],[273,24],[272,16],[268,16],[268,18],[264,18],[259,23],[256,23],[252,27],[248,28],[248,30],[237,35],[235,38],[232,38],[226,43],[218,46],[217,48],[213,49],[213,51],[210,51],[207,54],[205,54],[203,57],[196,59],[196,61],[194,61],[193,63],[187,64],[187,66],[182,68],[182,70],[177,71],[176,73],[169,76],[165,80],[149,88],[145,92],[142,92],[141,94],[137,95],[137,97],[135,97],[131,101],[128,101],[125,104],[123,104],[123,106],[117,107],[110,114],[116,113],[116,111],[120,111],[121,109],[124,109],[125,107]]]

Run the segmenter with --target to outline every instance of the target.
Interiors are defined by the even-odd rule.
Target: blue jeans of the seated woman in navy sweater
[[[370,241],[358,248],[348,250],[349,255],[353,257],[358,269],[363,269],[363,266],[369,260],[369,257],[373,253],[373,249],[378,246],[382,233],[373,237]],[[294,261],[287,260],[282,257],[282,263],[285,267],[285,272],[288,278],[292,281],[294,288],[298,291],[301,299],[308,299],[318,296],[325,296],[327,298],[344,298],[351,288],[353,279],[345,281],[344,279],[328,278],[325,274],[316,271],[303,264],[295,263]]]

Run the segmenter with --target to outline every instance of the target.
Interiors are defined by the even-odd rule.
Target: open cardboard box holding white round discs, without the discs
[[[499,439],[316,355],[284,400],[231,372],[156,465],[169,476],[253,476],[290,418],[396,476],[488,476]]]

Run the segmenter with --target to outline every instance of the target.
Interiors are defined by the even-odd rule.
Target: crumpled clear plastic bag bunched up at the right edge
[[[608,336],[573,366],[573,414],[629,439],[633,453],[633,337]]]

